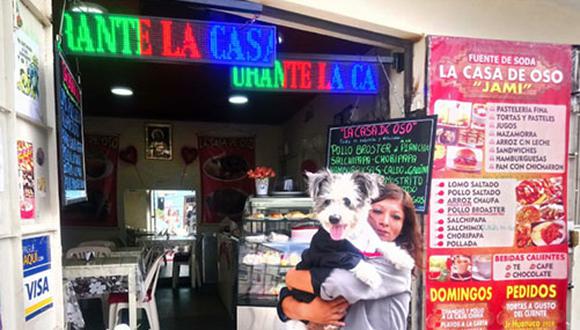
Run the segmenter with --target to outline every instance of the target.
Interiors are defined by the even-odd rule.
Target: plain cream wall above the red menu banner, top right
[[[434,34],[580,44],[580,3],[576,0],[256,2],[404,39]]]

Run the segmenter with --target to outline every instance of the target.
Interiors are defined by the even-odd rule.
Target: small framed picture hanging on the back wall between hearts
[[[145,125],[145,159],[173,159],[171,125]]]

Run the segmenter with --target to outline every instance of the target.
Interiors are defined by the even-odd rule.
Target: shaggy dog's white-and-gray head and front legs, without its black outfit
[[[333,174],[329,170],[307,173],[314,212],[330,237],[348,240],[363,253],[380,253],[398,268],[412,269],[413,258],[394,242],[383,242],[368,222],[371,201],[378,197],[383,178],[376,174]],[[355,276],[375,288],[381,284],[377,270],[361,260],[350,269]]]

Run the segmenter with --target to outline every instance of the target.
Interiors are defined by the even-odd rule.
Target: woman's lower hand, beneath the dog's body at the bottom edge
[[[346,315],[347,309],[348,302],[343,298],[324,301],[316,297],[310,303],[302,303],[293,297],[287,297],[282,301],[282,310],[291,319],[338,327],[345,325],[341,320]]]

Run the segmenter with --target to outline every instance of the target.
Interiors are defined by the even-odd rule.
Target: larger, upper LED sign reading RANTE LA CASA
[[[272,67],[276,28],[157,17],[66,12],[68,54]]]

